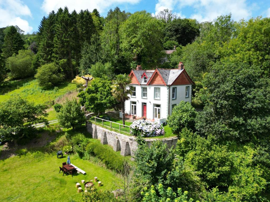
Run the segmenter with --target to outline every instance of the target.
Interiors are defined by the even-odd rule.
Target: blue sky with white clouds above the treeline
[[[18,25],[25,33],[32,33],[38,31],[43,16],[65,6],[70,12],[96,8],[104,17],[116,6],[126,12],[146,10],[152,15],[167,8],[181,18],[199,22],[212,21],[229,13],[236,21],[270,17],[270,0],[0,0],[0,27]]]

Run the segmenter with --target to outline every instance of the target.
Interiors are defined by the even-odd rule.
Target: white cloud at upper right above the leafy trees
[[[232,13],[234,20],[247,19],[251,16],[251,9],[247,6],[246,0],[158,0],[156,13],[163,8],[174,12],[192,9],[190,18],[200,22],[211,21],[229,13]]]

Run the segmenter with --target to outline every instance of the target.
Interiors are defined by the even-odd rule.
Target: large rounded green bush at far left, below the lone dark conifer
[[[33,53],[30,50],[19,50],[19,54],[6,60],[6,67],[10,70],[11,78],[22,79],[33,76]]]

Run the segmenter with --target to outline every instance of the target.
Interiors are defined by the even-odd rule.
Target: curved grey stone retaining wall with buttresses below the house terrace
[[[102,128],[90,122],[86,122],[87,132],[92,134],[94,139],[99,139],[102,144],[108,144],[113,147],[114,151],[120,151],[123,156],[131,155],[134,156],[134,152],[138,149],[136,137],[128,136],[114,131],[110,131],[106,128]],[[145,141],[150,147],[153,141],[161,140],[163,144],[167,144],[168,148],[175,147],[178,138],[146,138]]]

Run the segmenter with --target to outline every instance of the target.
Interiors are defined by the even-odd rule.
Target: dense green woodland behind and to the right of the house
[[[65,7],[33,34],[0,28],[0,53],[1,85],[34,76],[44,89],[76,75],[112,81],[137,65],[173,69],[183,61],[195,85],[192,106],[180,103],[168,117],[177,146],[166,152],[138,138],[124,201],[267,201],[270,18],[235,22],[228,13],[199,23],[167,9],[152,16],[118,7],[104,18]]]

